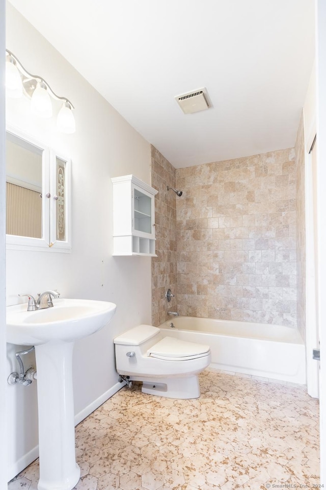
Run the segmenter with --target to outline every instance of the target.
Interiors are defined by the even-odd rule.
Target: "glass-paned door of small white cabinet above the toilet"
[[[137,185],[131,187],[132,233],[154,238],[154,196]]]

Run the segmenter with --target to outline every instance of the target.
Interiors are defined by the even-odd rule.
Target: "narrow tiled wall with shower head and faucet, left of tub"
[[[176,194],[167,190],[175,187],[175,168],[152,146],[151,180],[158,190],[155,196],[155,249],[152,258],[152,325],[158,326],[171,318],[167,312],[176,311],[176,297],[168,303],[168,287],[177,290]],[[177,198],[180,199],[180,198]]]

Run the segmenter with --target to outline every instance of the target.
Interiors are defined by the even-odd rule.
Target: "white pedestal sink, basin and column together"
[[[71,490],[79,480],[75,459],[72,391],[74,341],[91,335],[116,311],[114,303],[57,299],[52,308],[7,307],[7,342],[35,346],[39,413],[39,490]]]

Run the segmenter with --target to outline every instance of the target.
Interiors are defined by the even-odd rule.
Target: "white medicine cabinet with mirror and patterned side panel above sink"
[[[69,252],[70,199],[70,160],[7,128],[7,248]]]

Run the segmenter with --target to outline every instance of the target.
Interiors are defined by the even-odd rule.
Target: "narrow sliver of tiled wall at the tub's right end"
[[[305,139],[301,117],[295,143],[296,162],[296,253],[297,328],[306,338],[306,225],[305,225]]]

